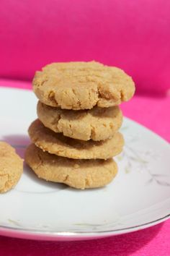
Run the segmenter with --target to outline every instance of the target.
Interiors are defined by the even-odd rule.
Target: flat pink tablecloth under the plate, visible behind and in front
[[[29,82],[0,80],[0,85],[31,88]],[[170,141],[170,97],[135,96],[122,104],[125,116],[139,121]],[[38,242],[0,236],[0,256],[169,256],[170,220],[149,229],[82,242]]]

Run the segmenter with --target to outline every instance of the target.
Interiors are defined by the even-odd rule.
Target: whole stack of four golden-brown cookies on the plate
[[[27,164],[41,179],[76,189],[114,179],[123,148],[118,105],[134,94],[131,77],[95,61],[53,63],[36,72],[38,119],[29,127]]]

